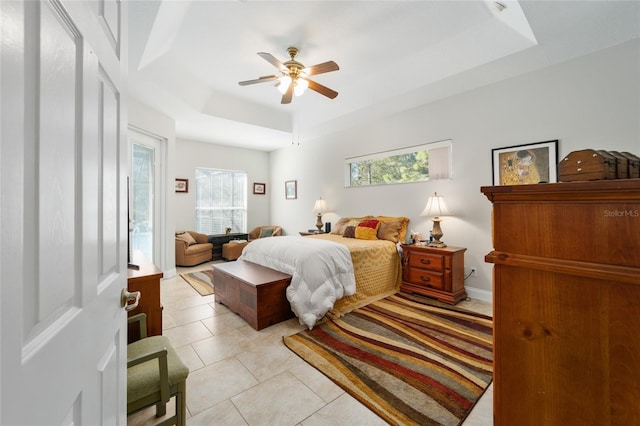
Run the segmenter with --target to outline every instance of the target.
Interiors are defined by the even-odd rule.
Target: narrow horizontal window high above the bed
[[[422,182],[451,177],[451,140],[345,160],[345,186]]]

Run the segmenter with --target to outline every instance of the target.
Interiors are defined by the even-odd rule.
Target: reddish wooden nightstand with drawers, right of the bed
[[[467,297],[464,290],[462,247],[402,245],[402,285],[400,290],[456,304]]]

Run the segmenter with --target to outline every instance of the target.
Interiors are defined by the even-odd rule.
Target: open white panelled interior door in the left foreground
[[[0,1],[0,424],[126,423],[124,3]]]

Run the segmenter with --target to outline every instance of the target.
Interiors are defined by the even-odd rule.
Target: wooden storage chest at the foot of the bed
[[[290,283],[291,275],[245,260],[213,265],[216,302],[256,330],[293,318],[286,296]]]

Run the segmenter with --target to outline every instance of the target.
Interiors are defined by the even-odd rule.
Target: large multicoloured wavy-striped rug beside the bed
[[[491,317],[397,293],[284,338],[390,424],[459,425],[492,379]]]

